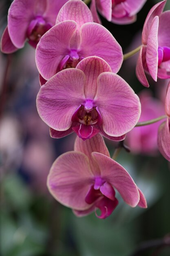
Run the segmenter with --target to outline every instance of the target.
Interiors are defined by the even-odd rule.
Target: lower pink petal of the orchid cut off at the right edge
[[[170,161],[170,127],[168,118],[159,126],[157,142],[163,157]]]

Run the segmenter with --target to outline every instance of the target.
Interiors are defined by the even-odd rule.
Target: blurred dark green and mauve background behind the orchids
[[[148,0],[132,25],[115,25],[102,18],[124,53],[141,45],[145,18],[156,2]],[[10,4],[0,0],[0,36]],[[170,9],[169,0],[166,9]],[[138,93],[140,121],[146,121],[164,115],[168,81],[153,83],[150,79],[150,88],[145,89],[135,76],[137,55],[124,61],[119,75]],[[133,209],[120,198],[106,220],[97,219],[94,213],[77,218],[46,188],[53,161],[73,150],[75,135],[50,137],[36,110],[39,88],[31,46],[9,56],[0,53],[0,255],[170,256],[170,247],[165,246],[170,240],[170,164],[158,152],[156,142],[161,121],[129,132],[125,143],[131,152],[121,150],[117,158],[144,192],[148,209]],[[106,145],[113,155],[117,144],[106,140]]]

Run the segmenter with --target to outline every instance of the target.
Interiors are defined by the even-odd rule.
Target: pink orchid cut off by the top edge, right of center
[[[130,24],[136,21],[136,14],[145,2],[146,0],[92,0],[91,12],[97,23],[101,23],[98,10],[108,21],[119,25]]]

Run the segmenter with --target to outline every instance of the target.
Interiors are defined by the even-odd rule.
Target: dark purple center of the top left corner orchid
[[[53,25],[50,22],[46,22],[42,16],[36,16],[34,20],[31,20],[27,29],[27,37],[29,43],[38,44],[40,38],[51,29]]]

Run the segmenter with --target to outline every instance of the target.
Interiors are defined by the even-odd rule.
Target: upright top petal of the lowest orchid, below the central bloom
[[[86,139],[85,141],[77,137],[75,139],[74,150],[82,152],[88,157],[91,165],[91,170],[94,175],[99,175],[100,172],[99,167],[97,166],[97,163],[94,161],[91,153],[99,152],[110,157],[104,139],[102,135],[100,135],[99,133],[92,137],[91,139]]]

